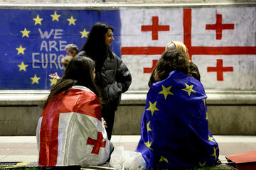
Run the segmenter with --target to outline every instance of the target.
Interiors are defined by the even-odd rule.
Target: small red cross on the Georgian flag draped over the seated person
[[[100,147],[106,147],[106,141],[103,140],[102,132],[97,133],[97,140],[93,140],[92,138],[88,137],[86,145],[94,145],[92,148],[92,154],[99,154]]]

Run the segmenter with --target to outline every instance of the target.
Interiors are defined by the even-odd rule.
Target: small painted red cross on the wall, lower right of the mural
[[[223,81],[223,72],[233,72],[233,67],[223,67],[223,60],[218,59],[216,67],[207,67],[207,72],[217,72],[217,81]]]

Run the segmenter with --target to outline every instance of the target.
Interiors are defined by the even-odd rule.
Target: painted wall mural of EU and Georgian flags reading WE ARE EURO
[[[132,72],[130,91],[149,89],[151,69],[170,40],[187,45],[205,89],[256,90],[255,6],[1,9],[0,14],[0,89],[50,89],[55,82],[48,74],[63,73],[65,45],[81,47],[101,21],[114,27],[111,48]]]

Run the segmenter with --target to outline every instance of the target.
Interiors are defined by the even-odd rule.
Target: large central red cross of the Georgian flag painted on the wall
[[[256,47],[198,47],[191,45],[191,8],[183,9],[183,42],[193,55],[256,55]],[[121,55],[161,55],[165,47],[121,47]]]

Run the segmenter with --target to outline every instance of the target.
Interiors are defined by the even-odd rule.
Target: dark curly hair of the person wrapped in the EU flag
[[[161,81],[169,76],[171,71],[189,72],[189,61],[181,50],[166,50],[154,69],[154,80]]]

